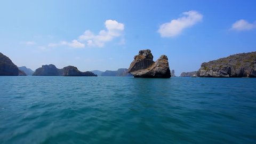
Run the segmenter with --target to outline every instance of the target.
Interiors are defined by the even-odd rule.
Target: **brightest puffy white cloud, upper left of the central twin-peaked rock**
[[[124,24],[115,20],[106,20],[105,27],[107,30],[100,30],[98,35],[86,30],[83,35],[79,36],[79,41],[86,41],[88,46],[103,47],[106,42],[121,36],[124,30]]]

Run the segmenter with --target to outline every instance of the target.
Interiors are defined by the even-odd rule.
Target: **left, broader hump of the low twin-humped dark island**
[[[63,69],[58,69],[54,65],[43,65],[41,68],[36,69],[33,76],[62,76]]]

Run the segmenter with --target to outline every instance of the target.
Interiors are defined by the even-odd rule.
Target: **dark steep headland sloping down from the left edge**
[[[12,62],[11,59],[6,57],[0,52],[0,76],[18,76],[19,69]]]

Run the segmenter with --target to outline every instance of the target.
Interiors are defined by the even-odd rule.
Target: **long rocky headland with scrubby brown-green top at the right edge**
[[[203,62],[199,77],[256,77],[256,52],[230,55]]]

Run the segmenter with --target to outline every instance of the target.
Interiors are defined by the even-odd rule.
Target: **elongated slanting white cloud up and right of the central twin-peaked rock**
[[[182,33],[183,29],[191,27],[203,19],[203,15],[197,11],[188,11],[182,14],[184,16],[181,18],[163,23],[157,32],[160,33],[162,37],[175,37]]]

